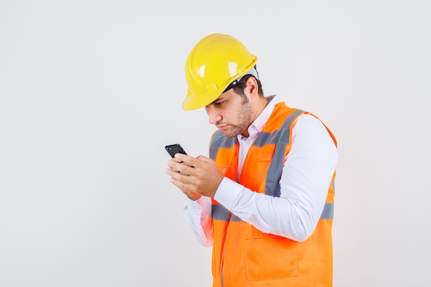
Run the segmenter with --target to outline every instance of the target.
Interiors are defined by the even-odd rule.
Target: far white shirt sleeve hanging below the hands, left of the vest
[[[202,246],[213,245],[211,198],[201,196],[198,200],[193,201],[186,197],[183,211],[196,240]]]

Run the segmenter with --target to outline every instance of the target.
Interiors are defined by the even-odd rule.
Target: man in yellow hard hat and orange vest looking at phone
[[[209,158],[177,153],[170,181],[198,241],[213,246],[213,286],[332,286],[337,143],[314,115],[264,97],[257,57],[233,36],[191,50],[183,109],[218,127]]]

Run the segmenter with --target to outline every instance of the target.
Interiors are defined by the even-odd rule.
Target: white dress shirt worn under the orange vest
[[[267,99],[269,104],[248,129],[249,137],[238,136],[237,178],[249,147],[279,102],[277,96]],[[293,125],[291,151],[285,158],[280,179],[280,198],[253,192],[225,177],[214,199],[264,233],[302,242],[313,233],[322,214],[337,158],[337,148],[326,127],[315,116],[302,114]],[[200,244],[211,246],[211,198],[201,196],[196,201],[186,198],[184,213]]]

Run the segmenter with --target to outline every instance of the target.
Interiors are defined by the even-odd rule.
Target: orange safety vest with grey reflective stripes
[[[277,103],[273,114],[250,147],[240,184],[259,193],[280,197],[284,159],[291,149],[295,119],[304,111]],[[328,129],[328,128],[327,128]],[[328,129],[335,145],[335,137]],[[209,156],[224,176],[235,180],[238,170],[237,138],[215,131]],[[332,286],[334,179],[313,234],[304,242],[262,233],[212,200],[213,287],[319,287]]]

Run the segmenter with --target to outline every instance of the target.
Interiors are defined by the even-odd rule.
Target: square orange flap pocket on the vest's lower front
[[[280,237],[247,239],[245,264],[247,280],[297,276],[296,243]]]

